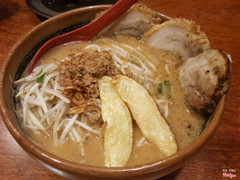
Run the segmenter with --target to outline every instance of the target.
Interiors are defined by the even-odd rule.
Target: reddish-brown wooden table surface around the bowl
[[[170,17],[184,17],[201,26],[212,47],[233,59],[231,87],[219,128],[202,150],[181,169],[163,179],[228,179],[223,170],[240,178],[240,1],[144,0]],[[0,66],[12,46],[41,23],[24,0],[0,2]],[[15,142],[0,117],[0,179],[61,179],[30,158]],[[233,178],[234,179],[234,178]]]

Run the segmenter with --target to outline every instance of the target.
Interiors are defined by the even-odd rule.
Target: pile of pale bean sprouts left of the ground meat
[[[64,143],[67,138],[81,142],[83,137],[79,129],[100,134],[99,129],[88,125],[88,115],[83,111],[69,113],[71,101],[62,94],[57,68],[58,65],[54,63],[38,66],[32,74],[15,82],[20,84],[16,97],[23,107],[19,115],[23,125],[36,132],[42,131],[47,136],[52,132],[56,145]]]

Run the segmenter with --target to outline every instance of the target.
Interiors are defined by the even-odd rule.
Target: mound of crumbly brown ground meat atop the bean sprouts
[[[85,99],[99,97],[97,81],[100,77],[119,73],[107,51],[70,54],[68,60],[60,63],[59,72],[59,83],[65,88],[64,94],[76,105],[79,105],[76,99],[81,100],[82,96]]]

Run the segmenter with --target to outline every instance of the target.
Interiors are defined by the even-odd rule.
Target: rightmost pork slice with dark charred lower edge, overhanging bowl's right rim
[[[230,61],[226,53],[209,49],[179,67],[180,83],[191,107],[203,113],[213,112],[228,90]]]

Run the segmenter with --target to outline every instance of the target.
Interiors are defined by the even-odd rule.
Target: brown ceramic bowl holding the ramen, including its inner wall
[[[180,168],[212,136],[220,122],[225,97],[218,103],[201,135],[186,148],[161,161],[124,168],[89,166],[56,157],[28,139],[14,113],[13,84],[10,79],[20,76],[34,51],[39,47],[38,44],[43,43],[51,34],[65,27],[91,20],[97,12],[108,7],[107,5],[91,6],[60,14],[33,28],[12,48],[0,71],[1,115],[9,132],[18,144],[30,156],[60,176],[70,179],[155,179],[162,177]]]

